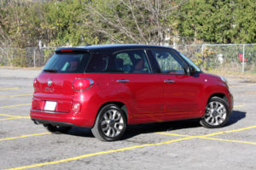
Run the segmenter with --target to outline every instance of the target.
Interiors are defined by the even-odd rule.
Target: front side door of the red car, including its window
[[[152,49],[154,59],[160,66],[160,79],[164,84],[164,116],[187,118],[200,115],[200,74],[189,76],[186,63],[171,49]]]

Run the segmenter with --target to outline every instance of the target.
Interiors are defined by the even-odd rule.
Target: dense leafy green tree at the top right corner
[[[255,8],[253,0],[190,0],[177,10],[177,30],[195,43],[252,43]]]

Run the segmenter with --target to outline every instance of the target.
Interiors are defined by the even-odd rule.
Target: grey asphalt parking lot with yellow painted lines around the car
[[[109,143],[87,128],[51,134],[36,126],[29,110],[38,73],[0,68],[0,169],[256,169],[256,83],[227,77],[235,107],[225,127],[137,125]]]

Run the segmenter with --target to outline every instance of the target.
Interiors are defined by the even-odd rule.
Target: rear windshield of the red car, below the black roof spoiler
[[[54,54],[44,66],[43,72],[84,73],[89,59],[89,53]]]

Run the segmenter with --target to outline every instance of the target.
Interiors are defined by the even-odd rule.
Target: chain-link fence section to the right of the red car
[[[256,73],[256,44],[201,44],[172,46],[203,70],[224,68]]]

